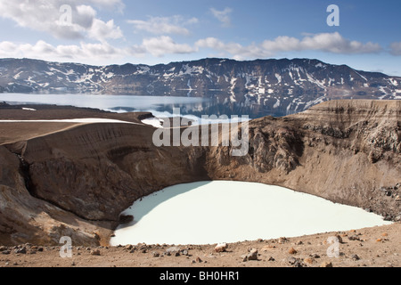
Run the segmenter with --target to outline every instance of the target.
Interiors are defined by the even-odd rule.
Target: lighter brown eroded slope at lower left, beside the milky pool
[[[28,191],[29,180],[20,159],[0,146],[0,243],[57,244],[69,236],[78,244],[99,244],[100,233],[111,224],[88,223],[54,207]]]

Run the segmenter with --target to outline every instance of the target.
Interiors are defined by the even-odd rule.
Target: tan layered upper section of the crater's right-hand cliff
[[[315,133],[352,141],[351,150],[369,153],[374,163],[400,153],[400,116],[400,101],[361,100],[325,102],[294,118],[303,119],[303,128]]]

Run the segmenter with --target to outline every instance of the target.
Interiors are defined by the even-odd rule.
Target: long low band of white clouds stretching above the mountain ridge
[[[96,21],[96,20],[94,20]],[[108,31],[106,35],[113,35],[113,22],[99,22],[99,28],[95,28],[94,22],[91,29],[92,37],[101,37],[102,31]],[[103,35],[104,36],[104,35]],[[115,37],[119,37],[117,34]],[[32,57],[85,60],[124,58],[127,56],[143,57],[150,54],[155,57],[163,57],[166,54],[190,54],[198,53],[202,49],[210,49],[214,53],[230,56],[236,60],[252,60],[257,58],[268,58],[285,52],[319,51],[325,53],[339,54],[364,54],[380,53],[381,45],[374,43],[361,43],[351,41],[342,37],[339,33],[323,33],[305,36],[301,39],[296,37],[276,37],[274,40],[266,39],[259,44],[240,45],[238,43],[225,43],[216,37],[207,37],[197,40],[194,44],[180,44],[172,37],[146,37],[141,45],[131,45],[125,48],[114,47],[105,41],[98,44],[80,45],[50,45],[45,41],[37,41],[35,45],[17,45],[12,42],[0,42],[0,57]],[[401,43],[392,45],[392,52],[401,55]]]

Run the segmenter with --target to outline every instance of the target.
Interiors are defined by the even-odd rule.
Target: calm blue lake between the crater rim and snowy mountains
[[[210,98],[176,96],[136,96],[122,94],[0,94],[0,102],[11,104],[53,104],[95,108],[113,112],[151,111],[156,117],[171,117],[173,108],[182,115],[226,115],[259,118],[266,116],[250,107],[220,103]]]

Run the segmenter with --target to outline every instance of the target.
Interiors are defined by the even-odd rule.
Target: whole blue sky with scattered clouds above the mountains
[[[340,26],[327,24],[330,4],[340,9]],[[396,0],[0,0],[0,25],[2,58],[96,65],[313,58],[401,76]]]

